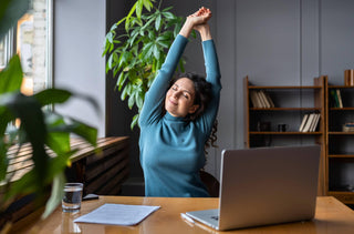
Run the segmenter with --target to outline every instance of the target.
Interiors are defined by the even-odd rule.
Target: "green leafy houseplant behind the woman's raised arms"
[[[121,99],[127,99],[129,109],[137,106],[138,113],[183,23],[183,18],[169,11],[171,7],[160,9],[162,2],[137,0],[129,13],[112,26],[105,39],[106,72],[112,71],[117,78]],[[184,71],[184,59],[179,64]],[[138,115],[133,118],[131,129]]]

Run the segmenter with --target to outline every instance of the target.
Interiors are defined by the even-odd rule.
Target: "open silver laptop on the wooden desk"
[[[226,231],[312,220],[320,145],[223,150],[219,208],[186,214]]]

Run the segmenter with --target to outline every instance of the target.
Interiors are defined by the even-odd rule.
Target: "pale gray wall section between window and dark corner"
[[[55,110],[97,128],[105,135],[105,1],[54,1],[54,85],[91,95],[100,112],[82,99],[73,99]]]

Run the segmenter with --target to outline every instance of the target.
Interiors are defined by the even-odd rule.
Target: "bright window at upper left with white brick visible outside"
[[[20,55],[24,94],[52,85],[52,6],[53,0],[32,0],[29,11],[0,41],[0,69],[13,53]]]

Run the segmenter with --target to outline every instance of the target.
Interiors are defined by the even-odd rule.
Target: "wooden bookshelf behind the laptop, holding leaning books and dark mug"
[[[319,174],[319,195],[325,193],[325,87],[326,77],[315,78],[313,85],[257,85],[248,77],[243,79],[244,100],[244,146],[281,146],[320,144],[321,160]],[[252,91],[264,91],[272,99],[274,106],[254,106]],[[299,131],[304,114],[317,113],[319,123],[314,131]],[[269,122],[267,131],[259,128]],[[284,132],[278,131],[278,124],[287,124]]]

